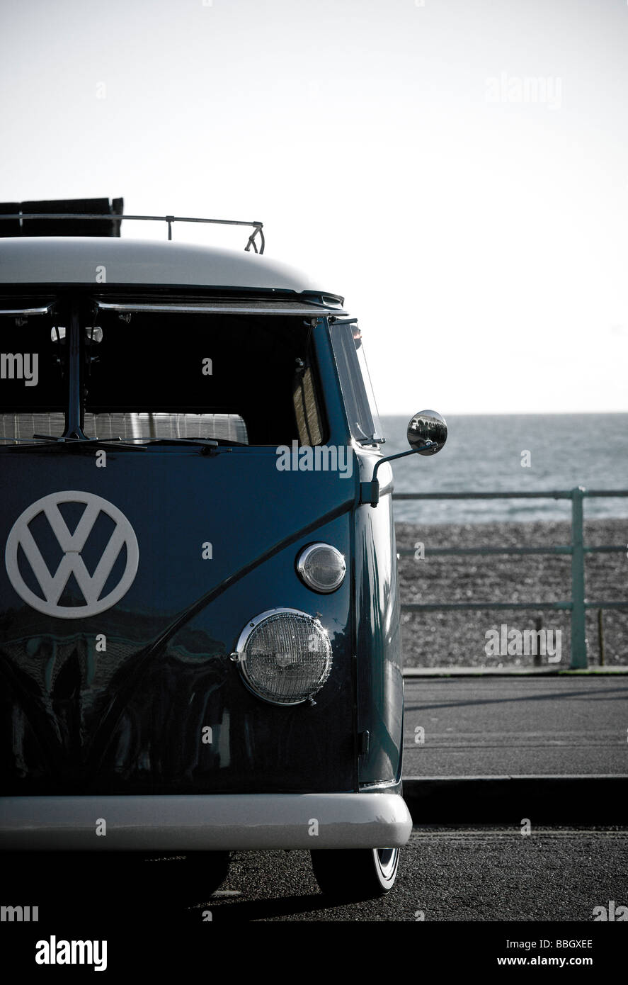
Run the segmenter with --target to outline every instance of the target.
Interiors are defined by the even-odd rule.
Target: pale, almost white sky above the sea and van
[[[0,201],[261,220],[382,414],[625,412],[627,93],[626,0],[0,0]]]

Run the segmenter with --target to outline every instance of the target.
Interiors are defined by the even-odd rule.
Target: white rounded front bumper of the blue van
[[[392,793],[0,798],[14,851],[397,848],[411,826]]]

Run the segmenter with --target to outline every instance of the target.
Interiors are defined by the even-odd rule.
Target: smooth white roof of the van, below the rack
[[[0,238],[0,284],[103,283],[323,293],[300,271],[244,250],[106,236]]]

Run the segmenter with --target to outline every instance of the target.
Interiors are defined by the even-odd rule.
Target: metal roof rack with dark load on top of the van
[[[90,200],[87,200],[90,201]],[[93,200],[95,201],[95,200]],[[106,202],[108,200],[98,200],[98,202]],[[249,236],[246,246],[244,249],[246,251],[250,250],[251,246],[256,253],[263,253],[264,246],[266,244],[263,232],[263,223],[256,221],[246,222],[237,219],[196,219],[191,216],[126,216],[122,215],[122,212],[117,212],[116,206],[120,203],[122,204],[122,199],[113,200],[113,208],[109,207],[108,212],[25,212],[21,211],[20,205],[13,206],[13,203],[0,204],[0,223],[11,222],[13,228],[10,228],[9,232],[5,232],[0,226],[0,238],[4,236],[25,236],[25,235],[110,235],[119,236],[120,235],[120,223],[123,219],[128,219],[133,222],[149,222],[149,223],[167,223],[168,227],[168,240],[172,239],[172,224],[173,223],[207,223],[214,224],[216,226],[249,226],[252,227],[253,232]],[[33,202],[24,203],[25,205],[53,205],[56,203],[52,202]],[[59,203],[60,204],[60,203]],[[70,204],[70,202],[68,202]],[[74,203],[72,203],[74,204]],[[15,208],[15,211],[13,209]],[[5,211],[11,209],[11,211]],[[96,233],[87,232],[83,230],[83,223],[86,221],[98,222],[100,224],[100,229],[102,232],[96,231]],[[59,229],[54,230],[51,233],[42,232],[39,222],[59,222]],[[65,228],[62,229],[63,224]],[[71,225],[70,225],[71,224]],[[106,224],[106,225],[105,225]],[[78,231],[81,229],[81,231]],[[259,249],[258,243],[256,242],[259,236]]]

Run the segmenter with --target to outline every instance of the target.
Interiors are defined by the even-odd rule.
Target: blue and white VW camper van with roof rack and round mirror
[[[356,318],[261,223],[237,251],[121,200],[0,213],[0,848],[185,855],[210,890],[307,849],[324,892],[387,892],[400,456]],[[446,434],[417,414],[404,454]]]

